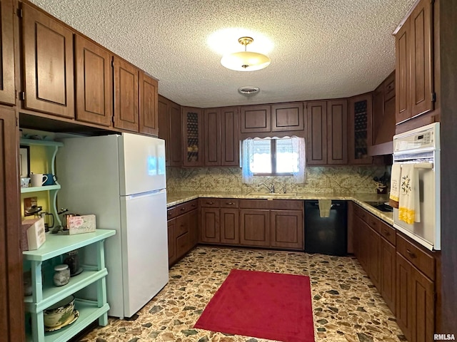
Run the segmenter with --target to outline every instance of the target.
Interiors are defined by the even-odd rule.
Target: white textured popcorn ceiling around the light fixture
[[[158,78],[166,98],[209,108],[373,90],[393,71],[392,32],[414,0],[32,2]],[[270,66],[252,72],[221,66],[208,39],[224,28],[238,28],[227,45],[245,35],[254,43],[268,38]],[[241,95],[241,86],[261,90]]]

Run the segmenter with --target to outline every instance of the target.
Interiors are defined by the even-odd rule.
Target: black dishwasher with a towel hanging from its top
[[[305,201],[305,252],[347,254],[348,212],[346,201],[331,201],[330,214],[321,217],[318,200]]]

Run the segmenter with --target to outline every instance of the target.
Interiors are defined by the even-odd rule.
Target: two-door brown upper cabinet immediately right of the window
[[[347,100],[306,103],[306,163],[347,164]]]

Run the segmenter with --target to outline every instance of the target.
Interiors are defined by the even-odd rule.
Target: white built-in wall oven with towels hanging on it
[[[393,209],[393,227],[430,250],[441,249],[440,124],[393,136],[393,163],[413,163],[419,178],[420,222],[407,224]]]

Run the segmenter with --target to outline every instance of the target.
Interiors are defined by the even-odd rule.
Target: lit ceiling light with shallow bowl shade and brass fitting
[[[238,42],[244,46],[244,51],[225,55],[221,59],[222,66],[234,71],[256,71],[270,65],[270,58],[261,53],[246,51],[246,46],[254,40],[251,37],[241,37]]]

